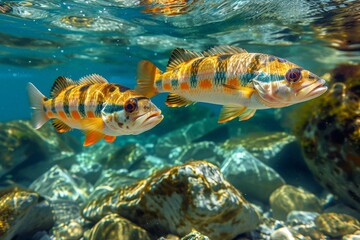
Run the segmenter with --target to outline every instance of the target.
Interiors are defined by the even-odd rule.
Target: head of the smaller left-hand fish
[[[105,125],[114,135],[143,133],[155,127],[164,118],[161,110],[147,97],[129,95],[121,102],[121,109],[109,112],[105,107],[102,113]]]

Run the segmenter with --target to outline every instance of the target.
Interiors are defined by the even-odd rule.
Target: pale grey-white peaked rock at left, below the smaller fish
[[[84,202],[91,190],[84,179],[71,175],[58,165],[41,175],[29,188],[50,201],[62,199],[78,203]]]

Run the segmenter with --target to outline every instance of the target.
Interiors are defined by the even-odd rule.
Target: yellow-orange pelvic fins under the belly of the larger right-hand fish
[[[247,120],[254,116],[255,112],[256,109],[248,109],[240,105],[224,106],[221,109],[218,123],[228,122],[236,117],[239,117],[239,121]]]

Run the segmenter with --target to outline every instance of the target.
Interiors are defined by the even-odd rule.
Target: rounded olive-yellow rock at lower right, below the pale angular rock
[[[320,212],[320,200],[312,193],[301,188],[283,185],[270,196],[270,207],[273,216],[279,220],[286,220],[287,215],[294,210]]]

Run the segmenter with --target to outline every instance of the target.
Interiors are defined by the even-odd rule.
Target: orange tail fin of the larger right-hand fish
[[[161,74],[161,71],[152,62],[147,60],[139,62],[135,91],[148,98],[158,94],[158,89],[155,87],[155,79],[159,74]]]

